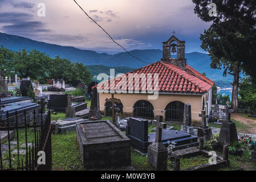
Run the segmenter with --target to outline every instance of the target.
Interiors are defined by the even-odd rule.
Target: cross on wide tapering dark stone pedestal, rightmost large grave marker
[[[231,145],[233,142],[238,140],[237,128],[230,118],[231,112],[233,112],[233,110],[229,109],[229,106],[225,106],[226,120],[221,123],[220,137],[218,139],[220,143],[226,145]]]

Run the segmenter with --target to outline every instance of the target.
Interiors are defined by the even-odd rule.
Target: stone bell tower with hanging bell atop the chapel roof
[[[176,42],[177,44],[173,43]],[[171,57],[171,52],[176,52],[177,46],[177,58]],[[172,48],[172,51],[171,51]],[[186,58],[185,58],[185,41],[180,41],[176,36],[172,36],[167,42],[162,43],[162,59],[161,61],[168,62],[170,64],[177,65],[178,67],[186,70]]]

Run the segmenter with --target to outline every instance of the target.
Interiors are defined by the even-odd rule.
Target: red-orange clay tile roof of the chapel
[[[135,73],[138,73],[135,75]],[[145,74],[144,78],[141,78]],[[149,64],[145,67],[136,69],[135,71],[126,73],[123,76],[119,76],[116,78],[112,78],[108,81],[101,82],[97,85],[97,88],[109,90],[118,88],[120,90],[126,90],[128,92],[128,85],[132,84],[132,89],[129,90],[139,90],[138,92],[147,92],[153,91],[157,88],[154,87],[154,79],[152,77],[148,77],[147,75],[151,73],[154,75],[155,73],[159,74],[159,92],[164,93],[206,93],[210,88],[212,88],[214,82],[209,78],[205,77],[201,73],[197,72],[195,69],[190,67],[188,64],[186,65],[186,71],[177,67],[174,64],[170,64],[164,61],[157,61],[156,63]],[[128,75],[133,74],[134,79],[129,79]],[[126,86],[123,89],[123,84],[125,84],[126,77]],[[152,84],[152,88],[147,82]],[[114,86],[115,82],[115,86]],[[111,83],[111,84],[110,84]],[[109,87],[109,85],[111,85]],[[104,88],[105,86],[105,88]],[[106,88],[107,87],[107,88]]]

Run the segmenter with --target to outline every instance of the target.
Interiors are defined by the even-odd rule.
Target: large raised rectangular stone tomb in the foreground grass
[[[76,123],[76,134],[86,169],[131,164],[130,139],[108,120]]]

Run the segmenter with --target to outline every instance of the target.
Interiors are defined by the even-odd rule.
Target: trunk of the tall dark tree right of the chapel
[[[239,64],[236,64],[234,68],[234,81],[232,90],[232,109],[234,110],[234,112],[237,111],[238,108],[239,73]]]

